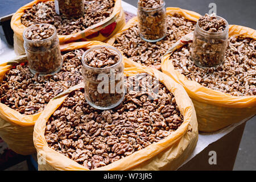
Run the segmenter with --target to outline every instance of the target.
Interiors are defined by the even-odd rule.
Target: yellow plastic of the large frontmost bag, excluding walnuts
[[[174,170],[188,158],[195,148],[198,138],[196,113],[192,101],[184,88],[156,69],[131,67],[125,68],[124,71],[126,76],[133,76],[143,72],[159,78],[159,81],[166,85],[174,94],[176,103],[179,106],[181,114],[184,116],[184,122],[174,133],[159,142],[153,143],[114,163],[94,170]],[[38,159],[40,160],[39,170],[89,170],[74,160],[67,158],[67,156],[49,148],[44,137],[46,122],[49,117],[51,117],[65,98],[68,97],[68,93],[79,88],[84,88],[84,85],[76,85],[69,89],[68,92],[60,94],[60,97],[57,99],[51,100],[40,115],[38,121],[36,121],[34,144],[38,151]]]

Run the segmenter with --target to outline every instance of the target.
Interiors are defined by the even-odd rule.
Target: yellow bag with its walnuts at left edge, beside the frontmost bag
[[[26,55],[0,65],[0,137],[16,153],[36,152],[32,139],[36,119],[51,98],[82,81],[82,53],[106,44],[92,41],[74,45],[61,45],[63,67],[54,75],[33,75]]]

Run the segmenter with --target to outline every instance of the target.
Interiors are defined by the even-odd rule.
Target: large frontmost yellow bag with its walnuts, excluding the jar
[[[152,68],[125,68],[124,75],[129,86],[159,80],[159,97],[131,91],[121,105],[97,110],[80,84],[51,100],[34,128],[39,170],[174,170],[187,159],[198,131],[185,90]]]

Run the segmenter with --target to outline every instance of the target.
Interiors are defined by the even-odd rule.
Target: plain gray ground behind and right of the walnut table
[[[138,0],[124,0],[137,7]],[[210,3],[216,3],[217,15],[229,24],[256,29],[255,0],[165,0],[166,7],[180,7],[204,15]],[[256,117],[246,123],[234,170],[256,170]]]

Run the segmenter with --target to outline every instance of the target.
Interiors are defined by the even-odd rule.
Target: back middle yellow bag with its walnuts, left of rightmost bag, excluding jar
[[[118,48],[126,58],[133,61],[132,66],[144,65],[160,69],[164,53],[182,36],[193,31],[197,19],[200,18],[200,14],[179,7],[167,7],[166,14],[166,36],[158,42],[146,42],[141,38],[138,17],[135,16],[107,43]],[[130,65],[126,64],[125,67]]]

